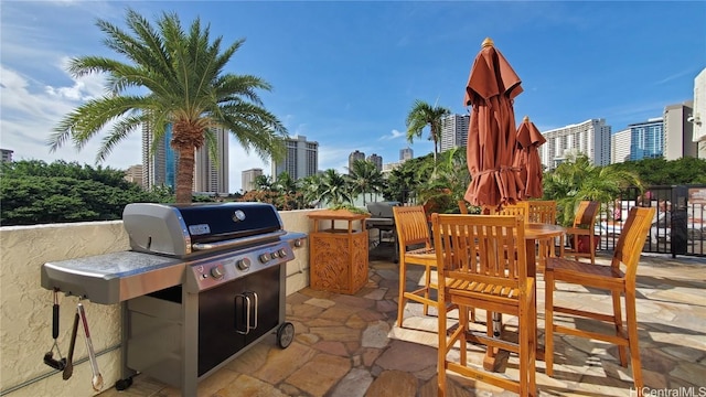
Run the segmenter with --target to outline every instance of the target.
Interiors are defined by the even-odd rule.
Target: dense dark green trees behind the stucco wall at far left
[[[145,192],[110,168],[56,161],[22,160],[2,164],[0,223],[34,225],[64,222],[114,221],[129,203],[163,202],[164,195]],[[170,197],[173,201],[173,195]]]

